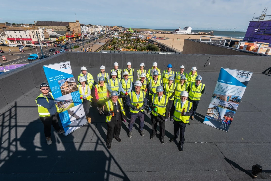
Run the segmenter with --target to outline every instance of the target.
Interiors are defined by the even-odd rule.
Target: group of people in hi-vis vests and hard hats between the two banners
[[[131,66],[128,62],[127,68],[121,70],[115,62],[114,69],[110,71],[110,77],[105,72],[105,66],[101,66],[96,85],[93,85],[93,76],[87,72],[86,67],[81,67],[78,90],[88,122],[91,122],[90,103],[93,100],[99,108],[99,114],[106,116],[107,148],[111,149],[113,138],[121,142],[119,138],[121,124],[122,121],[127,121],[127,112],[130,114],[127,132],[129,138],[132,137],[136,118],[139,120],[139,133],[144,136],[144,114],[147,112],[151,115],[152,135],[150,138],[155,137],[159,123],[162,144],[164,144],[165,122],[170,119],[174,125],[174,137],[170,139],[170,142],[180,136],[179,150],[183,151],[186,124],[189,124],[189,119],[194,120],[199,100],[205,90],[205,85],[201,83],[202,76],[197,75],[196,67],[192,67],[189,74],[185,73],[183,65],[180,66],[178,72],[174,72],[171,70],[172,65],[168,64],[167,70],[164,70],[162,74],[156,62],[153,62],[152,68],[148,71],[144,69],[144,63],[140,64],[140,69],[136,72]],[[137,74],[136,81],[134,81],[135,73]],[[45,98],[47,99],[46,96]],[[149,100],[148,107],[147,99]],[[58,130],[58,127],[55,129]]]

